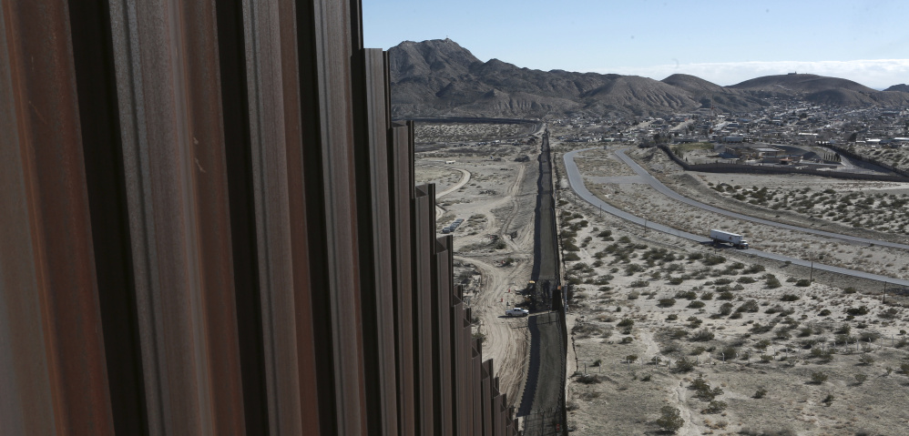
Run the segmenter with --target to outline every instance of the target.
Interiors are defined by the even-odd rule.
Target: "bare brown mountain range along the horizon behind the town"
[[[749,112],[769,97],[834,106],[907,106],[909,86],[877,91],[851,80],[807,74],[763,76],[719,86],[696,76],[663,80],[540,71],[482,62],[451,39],[405,41],[388,50],[395,117],[657,116],[717,107]]]

